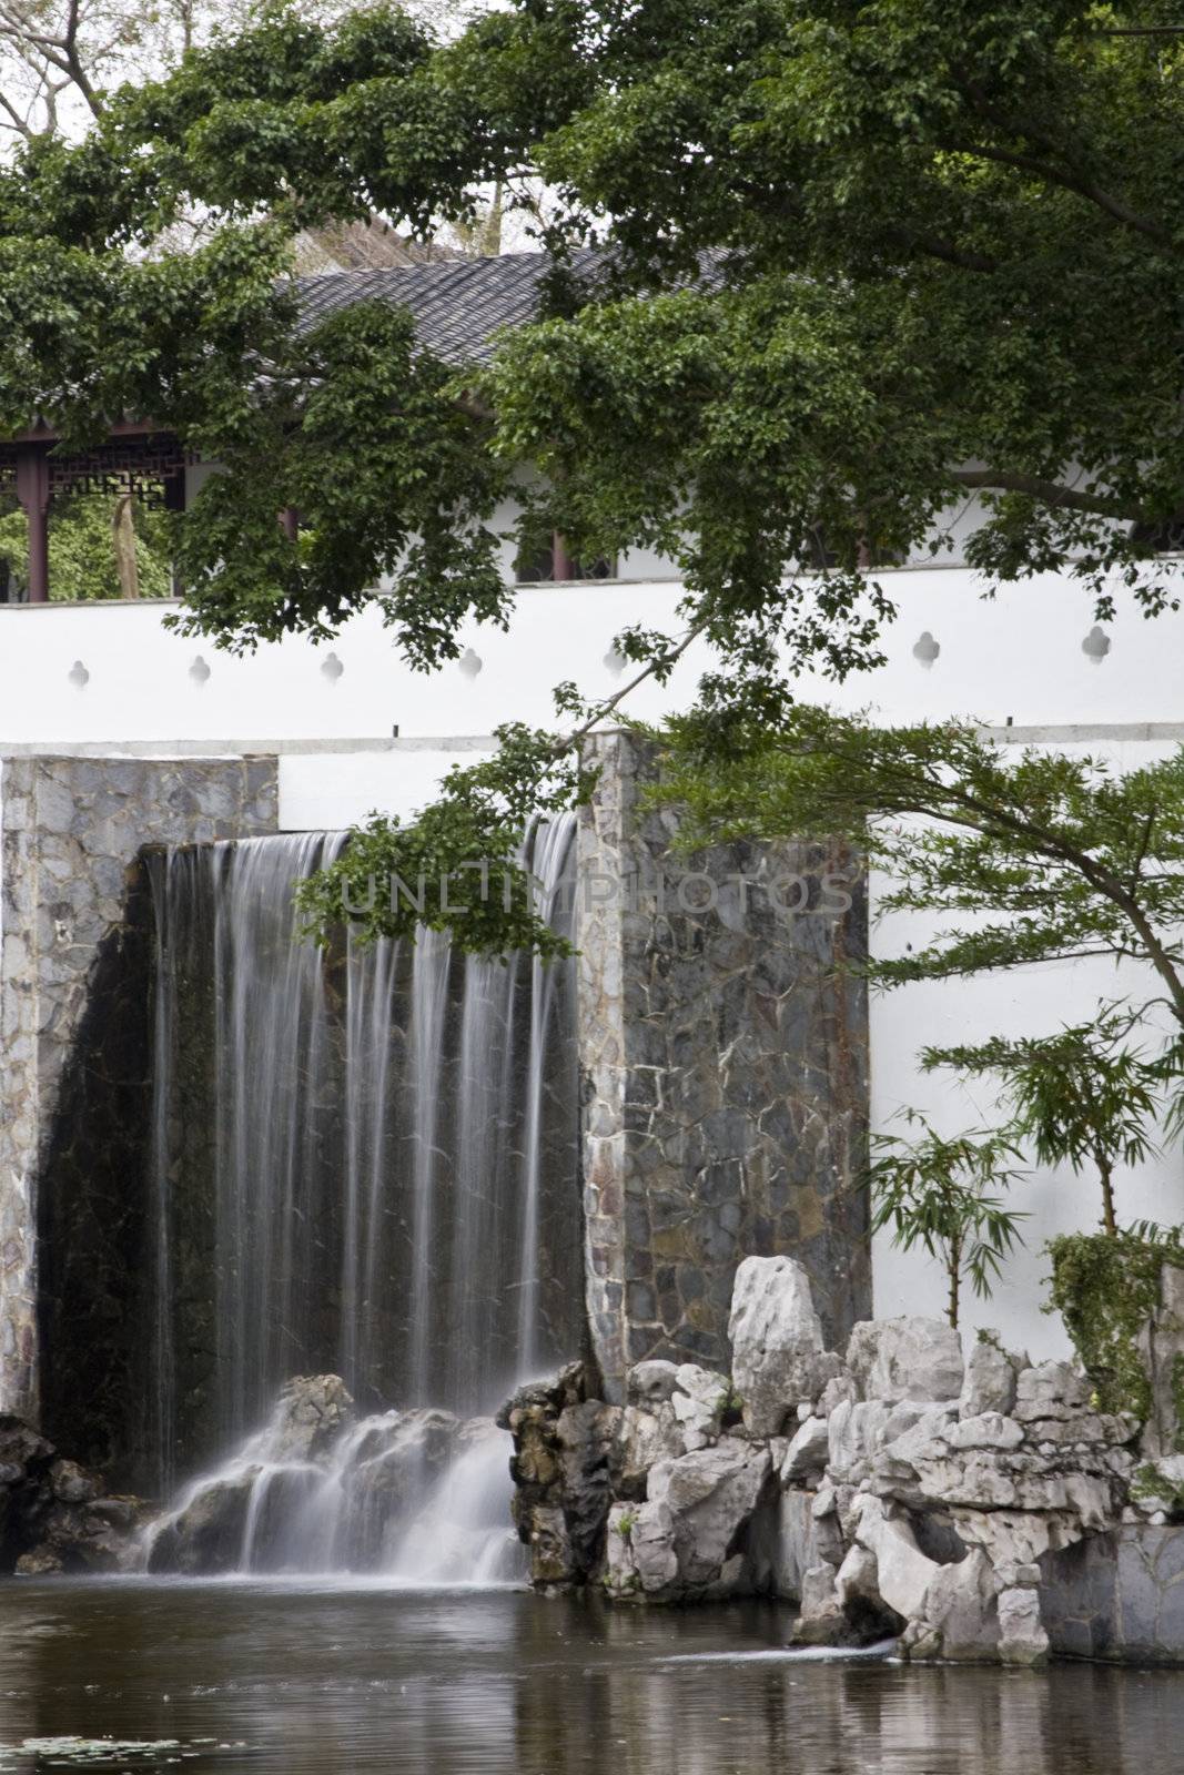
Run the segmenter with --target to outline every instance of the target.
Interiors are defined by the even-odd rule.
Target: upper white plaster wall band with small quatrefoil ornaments
[[[836,687],[804,678],[806,698],[870,706],[886,721],[971,715],[991,724],[1148,722],[1184,719],[1184,616],[1145,621],[1118,595],[1111,651],[1081,651],[1092,628],[1081,586],[1054,575],[1008,586],[994,602],[966,568],[882,575],[898,604],[884,643],[888,664]],[[233,657],[163,627],[162,604],[0,605],[0,749],[9,742],[250,742],[490,733],[502,721],[547,724],[550,690],[575,678],[607,696],[621,678],[605,664],[625,623],[678,632],[678,586],[635,580],[524,588],[508,632],[472,625],[465,646],[476,676],[451,664],[412,673],[378,611],[353,618],[328,644],[300,637]],[[912,648],[928,632],[941,653],[925,667]],[[323,673],[328,655],[344,667]],[[197,659],[209,678],[192,676]],[[85,687],[69,682],[78,660]],[[659,715],[691,696],[705,648],[692,650],[667,687],[630,699]]]

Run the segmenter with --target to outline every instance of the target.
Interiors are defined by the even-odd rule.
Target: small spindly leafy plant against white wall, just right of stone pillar
[[[893,1244],[905,1251],[920,1246],[944,1266],[946,1315],[957,1328],[962,1282],[985,1299],[1001,1260],[1022,1244],[1019,1223],[1028,1216],[1008,1209],[998,1193],[1019,1175],[1006,1161],[1021,1152],[1005,1134],[973,1129],[946,1140],[914,1109],[905,1120],[920,1125],[918,1140],[872,1140],[879,1154],[872,1164],[872,1232],[891,1227]]]

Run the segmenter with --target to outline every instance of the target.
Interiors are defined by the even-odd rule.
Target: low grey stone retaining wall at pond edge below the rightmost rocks
[[[1054,1653],[1184,1665],[1184,1526],[1124,1523],[1040,1560]]]

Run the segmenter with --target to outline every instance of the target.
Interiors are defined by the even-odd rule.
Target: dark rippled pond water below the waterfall
[[[1184,1672],[785,1656],[772,1605],[0,1589],[0,1771],[1177,1775]]]

